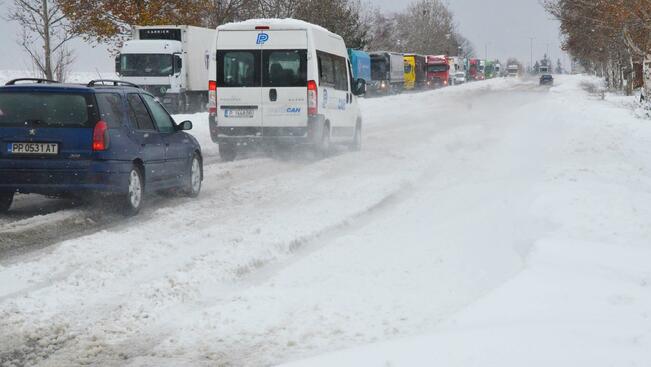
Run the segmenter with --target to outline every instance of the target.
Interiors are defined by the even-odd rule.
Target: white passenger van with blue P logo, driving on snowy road
[[[332,143],[360,149],[362,119],[343,38],[293,19],[217,28],[209,70],[209,122],[222,159],[251,143]]]

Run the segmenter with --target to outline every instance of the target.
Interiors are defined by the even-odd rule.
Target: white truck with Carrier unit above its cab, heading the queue
[[[208,103],[208,67],[215,30],[193,26],[135,26],[115,59],[124,81],[158,97],[172,113],[198,112]]]

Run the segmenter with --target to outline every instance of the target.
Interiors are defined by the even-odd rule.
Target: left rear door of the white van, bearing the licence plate
[[[217,33],[217,125],[220,134],[262,133],[259,31]]]

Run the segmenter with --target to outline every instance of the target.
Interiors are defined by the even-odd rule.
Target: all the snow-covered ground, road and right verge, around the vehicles
[[[0,218],[0,366],[651,365],[651,125],[598,82],[363,100],[323,160],[222,163],[176,116],[197,200]]]

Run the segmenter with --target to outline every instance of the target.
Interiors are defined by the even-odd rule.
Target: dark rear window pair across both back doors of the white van
[[[228,50],[217,52],[217,86],[306,87],[306,50]]]

